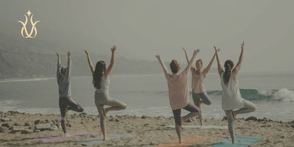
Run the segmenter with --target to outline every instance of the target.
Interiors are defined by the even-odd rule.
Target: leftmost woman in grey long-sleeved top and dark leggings
[[[59,108],[61,110],[61,126],[65,137],[70,135],[67,134],[65,126],[65,116],[67,115],[68,110],[74,110],[77,112],[83,112],[83,107],[80,104],[77,104],[71,97],[71,86],[70,86],[70,77],[72,76],[72,59],[70,56],[72,52],[68,50],[67,52],[67,67],[61,65],[59,52],[56,52],[58,57],[57,61],[57,84],[59,85]]]

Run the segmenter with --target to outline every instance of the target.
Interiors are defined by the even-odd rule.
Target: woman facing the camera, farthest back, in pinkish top
[[[189,57],[187,55],[187,49],[182,48],[185,51],[187,62],[189,63]],[[220,51],[220,50],[218,50]],[[211,104],[211,98],[207,95],[207,92],[204,89],[204,79],[209,72],[211,65],[216,58],[216,54],[213,55],[211,61],[209,62],[209,65],[204,70],[201,70],[202,68],[202,59],[198,59],[196,61],[196,69],[191,66],[191,72],[192,72],[192,98],[194,101],[194,104],[198,106],[198,108],[201,109],[201,104],[210,105]],[[201,100],[200,100],[201,99]],[[198,118],[200,119],[201,126],[200,128],[204,127],[202,115],[199,115]]]

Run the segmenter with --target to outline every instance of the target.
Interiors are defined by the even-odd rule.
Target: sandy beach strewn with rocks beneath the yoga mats
[[[0,146],[82,146],[81,144],[70,144],[70,142],[102,137],[100,128],[100,118],[97,115],[67,115],[67,132],[75,133],[80,131],[96,133],[95,135],[84,135],[83,137],[72,137],[59,141],[33,141],[41,137],[62,135],[60,126],[61,116],[25,114],[18,112],[0,112]],[[293,146],[294,144],[294,121],[282,122],[271,121],[271,119],[246,120],[236,119],[235,135],[249,135],[253,137],[264,137],[256,144],[250,146]],[[255,118],[249,118],[255,119]],[[7,126],[8,123],[12,126]],[[36,124],[50,124],[57,126],[57,130],[43,130],[35,132]],[[197,118],[186,120],[183,125],[199,125]],[[174,125],[174,118],[169,117],[136,117],[136,116],[108,116],[106,121],[107,135],[116,133],[135,134],[136,137],[124,139],[114,139],[105,141],[95,146],[157,146],[178,139],[174,128],[167,126]],[[204,125],[207,126],[227,126],[226,119],[205,119]],[[192,146],[213,146],[223,139],[230,139],[227,129],[199,129],[182,128],[182,137],[209,136],[202,142]]]

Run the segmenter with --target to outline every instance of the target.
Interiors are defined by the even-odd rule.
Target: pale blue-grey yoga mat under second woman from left
[[[118,138],[127,138],[127,137],[135,137],[137,135],[132,135],[132,134],[114,134],[114,135],[108,135],[107,138],[109,140],[112,140],[112,139],[118,139]],[[82,141],[76,141],[76,142],[71,142],[70,144],[82,144],[84,146],[94,146],[96,144],[101,144],[105,142],[103,140],[103,137],[96,137],[96,138],[92,138],[92,139],[87,139],[87,140],[82,140]]]

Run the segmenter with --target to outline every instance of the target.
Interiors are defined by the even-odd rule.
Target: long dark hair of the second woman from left
[[[94,84],[94,88],[96,89],[100,89],[102,73],[105,72],[106,70],[105,65],[106,65],[105,61],[98,61],[96,63],[96,68],[93,74],[93,81],[92,81]]]

